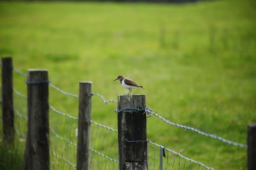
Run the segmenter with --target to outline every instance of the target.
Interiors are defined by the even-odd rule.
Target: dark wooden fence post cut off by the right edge
[[[248,170],[256,169],[256,124],[248,125]]]

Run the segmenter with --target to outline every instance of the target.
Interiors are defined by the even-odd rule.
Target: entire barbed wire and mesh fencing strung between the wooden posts
[[[13,68],[13,71],[20,76],[27,77],[25,73],[19,71],[19,69]],[[52,89],[57,90],[61,94],[68,97],[79,97],[77,94],[65,92],[56,85],[50,83]],[[15,131],[20,140],[25,141],[26,137],[26,124],[28,117],[25,113],[28,113],[27,96],[19,90],[13,88],[15,94],[14,111],[17,115],[15,120]],[[103,103],[117,103],[115,100],[107,100],[101,94],[93,93],[93,96],[100,97]],[[76,154],[77,154],[77,120],[74,115],[65,111],[60,111],[57,106],[50,104],[49,120],[50,120],[50,153],[51,153],[51,169],[76,169]],[[65,110],[65,106],[61,106],[61,109]],[[148,115],[154,115],[159,120],[164,121],[168,125],[186,129],[188,131],[196,132],[202,136],[206,136],[213,139],[218,139],[228,145],[246,148],[246,145],[237,143],[215,134],[209,134],[193,127],[177,124],[166,120],[163,116],[157,114],[149,108],[125,108],[123,110],[115,110],[116,112],[136,112],[144,111]],[[68,111],[67,111],[68,112]],[[16,117],[15,117],[16,118]],[[118,131],[111,127],[108,127],[98,122],[91,121],[91,136],[90,136],[90,169],[118,169]],[[170,148],[166,148],[163,145],[159,145],[150,140],[129,140],[129,143],[147,142],[148,145],[148,167],[149,169],[213,169],[202,162],[198,162],[193,159],[189,159],[184,155],[173,151]],[[68,168],[67,168],[68,167]]]

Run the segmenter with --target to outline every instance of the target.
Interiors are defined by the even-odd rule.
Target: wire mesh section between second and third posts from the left
[[[76,169],[77,118],[50,105],[50,153],[52,169]]]

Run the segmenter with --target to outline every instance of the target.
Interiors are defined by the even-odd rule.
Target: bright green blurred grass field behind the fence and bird
[[[1,2],[0,55],[12,55],[24,72],[48,69],[51,83],[75,94],[79,81],[90,80],[93,92],[116,99],[127,90],[113,80],[128,76],[145,87],[132,93],[145,94],[147,106],[168,120],[246,143],[246,126],[256,122],[255,12],[254,1],[237,0]],[[26,93],[24,78],[13,75]],[[50,103],[77,116],[76,99],[50,89]],[[93,97],[96,122],[116,128],[115,109]],[[246,169],[243,148],[147,120],[152,141],[214,169]]]

